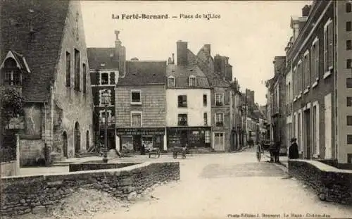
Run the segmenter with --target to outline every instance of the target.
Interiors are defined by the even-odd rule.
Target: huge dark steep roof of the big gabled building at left
[[[69,1],[56,0],[1,1],[0,60],[3,61],[10,50],[25,57],[31,70],[23,75],[26,101],[47,101],[49,98],[68,4]]]

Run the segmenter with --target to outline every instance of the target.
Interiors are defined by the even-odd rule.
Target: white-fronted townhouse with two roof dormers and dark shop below
[[[210,86],[201,69],[189,63],[188,51],[187,42],[178,41],[177,64],[167,66],[167,145],[211,149]]]

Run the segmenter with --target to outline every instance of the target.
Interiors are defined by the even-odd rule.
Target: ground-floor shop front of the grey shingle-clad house
[[[146,149],[166,150],[165,127],[116,128],[118,150],[140,152],[142,144]]]

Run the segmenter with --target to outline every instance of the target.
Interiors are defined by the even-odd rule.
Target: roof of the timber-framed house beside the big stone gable
[[[87,56],[91,69],[118,69],[115,48],[87,48]]]

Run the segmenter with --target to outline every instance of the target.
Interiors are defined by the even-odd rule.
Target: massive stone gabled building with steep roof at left
[[[92,91],[79,1],[2,1],[0,90],[25,100],[20,164],[92,145]]]

